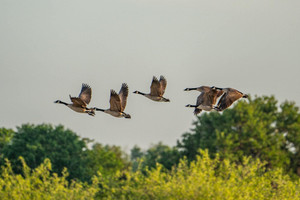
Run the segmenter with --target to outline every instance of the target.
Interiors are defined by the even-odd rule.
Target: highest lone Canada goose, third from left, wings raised
[[[167,87],[167,80],[165,79],[164,76],[160,76],[159,81],[155,76],[153,76],[149,94],[145,94],[139,91],[134,91],[133,93],[143,95],[153,101],[170,102],[169,99],[163,97],[166,87]]]

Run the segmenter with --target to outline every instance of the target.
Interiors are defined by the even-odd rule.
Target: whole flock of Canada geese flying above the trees
[[[164,76],[160,76],[159,80],[155,76],[153,76],[149,94],[139,91],[134,91],[133,93],[143,95],[144,97],[147,97],[153,101],[170,102],[169,99],[163,97],[166,87],[167,80]],[[200,92],[200,95],[198,96],[195,105],[186,105],[186,107],[194,108],[195,115],[199,114],[202,110],[216,110],[220,112],[230,107],[233,104],[233,102],[237,101],[238,99],[248,98],[247,94],[243,94],[242,92],[233,88],[201,86],[196,88],[184,89],[184,91],[191,90],[197,90]],[[72,103],[65,103],[61,100],[57,100],[54,103],[66,105],[67,107],[76,112],[87,113],[91,116],[95,115],[95,111],[102,111],[114,117],[124,117],[130,119],[131,116],[124,112],[127,103],[128,93],[128,85],[126,83],[123,83],[119,94],[116,93],[115,90],[110,90],[110,107],[108,109],[100,109],[96,107],[88,108],[87,105],[90,103],[92,97],[92,89],[89,85],[82,84],[82,88],[78,97],[71,97],[71,95],[69,95]],[[217,105],[215,106],[218,98],[220,99]]]

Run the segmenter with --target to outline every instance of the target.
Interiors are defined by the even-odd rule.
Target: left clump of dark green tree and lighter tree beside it
[[[130,165],[120,147],[96,143],[88,149],[87,143],[91,140],[81,139],[61,125],[25,124],[18,127],[16,133],[2,128],[0,134],[4,147],[0,149],[2,165],[5,163],[4,158],[7,158],[16,173],[22,172],[19,156],[24,158],[30,168],[36,168],[48,158],[52,162],[53,172],[60,173],[66,167],[70,173],[68,179],[88,182],[98,171],[103,176],[110,176]]]

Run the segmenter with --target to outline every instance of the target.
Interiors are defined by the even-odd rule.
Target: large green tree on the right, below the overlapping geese
[[[191,133],[185,133],[177,147],[189,160],[199,148],[211,156],[242,162],[243,156],[267,161],[268,167],[289,170],[299,165],[300,127],[298,107],[292,102],[279,106],[274,96],[239,101],[222,113],[204,113],[194,122]],[[296,170],[294,166],[294,171]]]

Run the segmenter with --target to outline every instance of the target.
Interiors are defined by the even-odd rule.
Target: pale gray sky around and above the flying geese
[[[0,0],[0,126],[63,124],[103,144],[175,145],[192,127],[197,92],[234,87],[300,105],[299,0]],[[170,103],[132,94],[152,76],[168,80]],[[126,112],[75,113],[81,84],[91,106],[109,107],[128,83]]]

